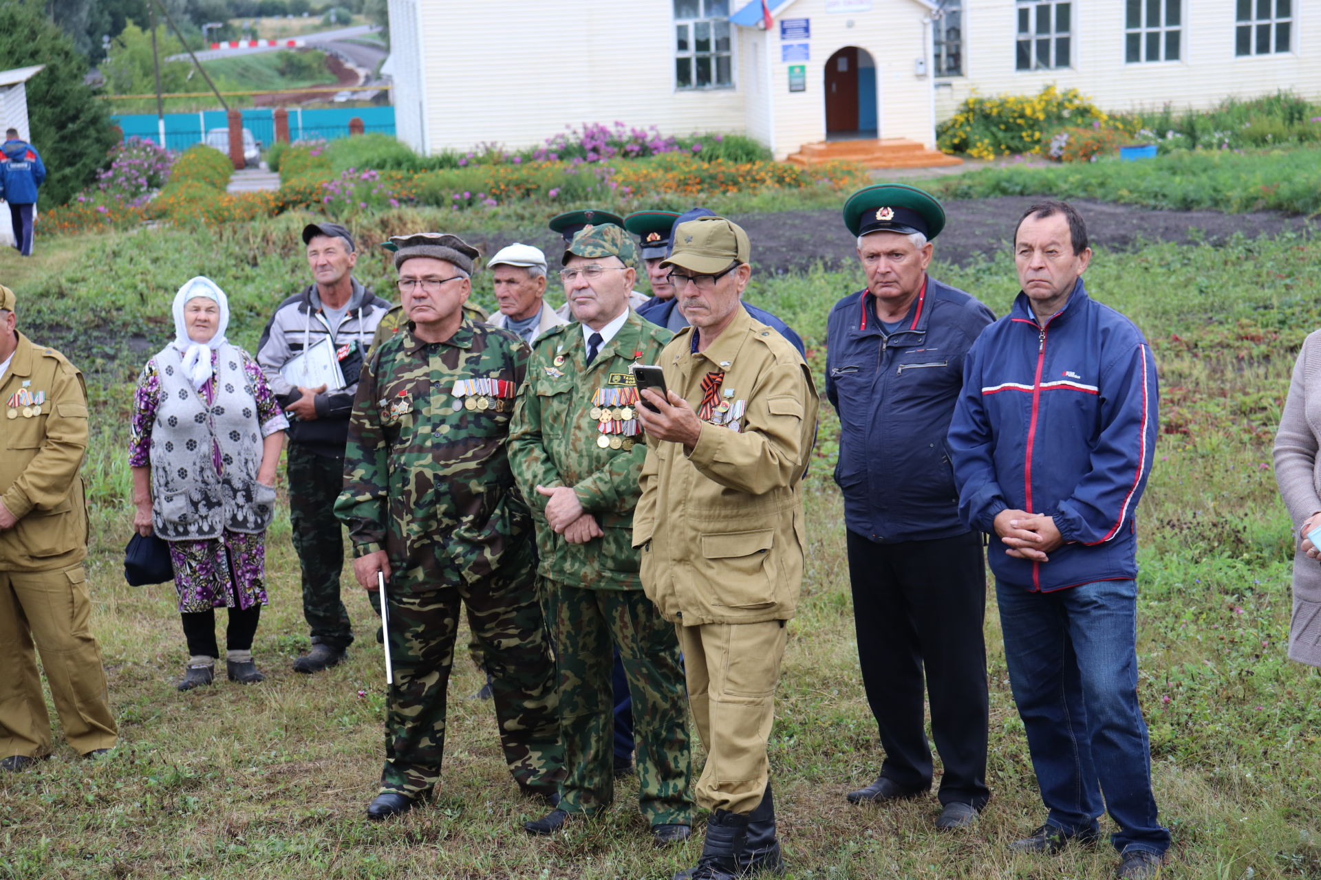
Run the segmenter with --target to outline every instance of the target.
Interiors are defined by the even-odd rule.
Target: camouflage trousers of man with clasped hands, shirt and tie
[[[614,646],[633,695],[638,809],[651,825],[692,823],[692,749],[679,641],[641,590],[540,579],[553,610],[564,782],[560,809],[594,814],[614,800]]]

